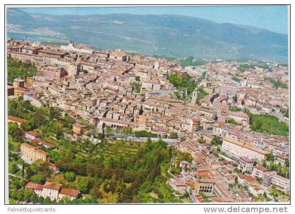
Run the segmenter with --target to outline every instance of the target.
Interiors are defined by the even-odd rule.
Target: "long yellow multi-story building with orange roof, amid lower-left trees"
[[[41,150],[39,146],[33,147],[26,143],[21,144],[21,156],[33,162],[36,160],[49,162],[50,159],[50,154]]]

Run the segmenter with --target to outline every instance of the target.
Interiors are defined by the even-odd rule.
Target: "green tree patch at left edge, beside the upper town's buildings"
[[[33,64],[22,63],[10,57],[7,58],[8,83],[13,83],[15,78],[21,78],[26,81],[26,78],[34,76],[36,71],[37,67]]]

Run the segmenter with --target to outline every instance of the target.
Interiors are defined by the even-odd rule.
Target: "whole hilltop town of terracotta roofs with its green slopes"
[[[8,39],[7,58],[14,202],[289,201],[287,65],[72,40]]]

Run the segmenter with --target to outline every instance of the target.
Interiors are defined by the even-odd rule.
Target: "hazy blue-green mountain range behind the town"
[[[288,62],[288,36],[252,26],[180,15],[48,15],[6,13],[7,36],[36,42],[89,44],[101,49],[198,59]]]

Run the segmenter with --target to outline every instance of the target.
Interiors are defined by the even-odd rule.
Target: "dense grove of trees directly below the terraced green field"
[[[144,182],[153,183],[157,176],[161,176],[163,166],[169,164],[170,156],[171,149],[167,148],[165,142],[148,139],[132,160],[110,159],[104,166],[102,157],[82,163],[76,156],[68,154],[57,161],[56,166],[65,172],[67,181],[74,181],[76,174],[77,189],[89,193],[100,202],[131,203],[139,202],[137,193]]]

